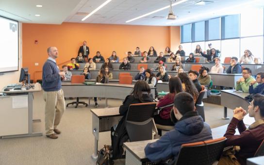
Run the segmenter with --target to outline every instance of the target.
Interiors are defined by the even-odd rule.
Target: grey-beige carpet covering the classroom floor
[[[81,99],[88,102],[88,99]],[[66,103],[75,100],[66,100]],[[91,158],[94,152],[94,136],[91,126],[91,112],[94,101],[91,99],[88,107],[80,106],[66,108],[59,125],[61,134],[58,139],[46,136],[0,139],[0,165],[95,165]],[[99,100],[99,108],[104,107],[104,99]],[[109,99],[109,107],[116,107],[122,100]],[[44,100],[42,92],[34,94],[34,119],[41,119],[41,123],[34,124],[35,132],[43,132],[44,128]],[[230,120],[222,120],[223,107],[205,103],[206,122],[211,128],[228,124]],[[232,116],[232,111],[228,111]],[[4,126],[1,126],[4,127]],[[99,148],[104,144],[111,144],[110,132],[100,133]],[[115,161],[115,165],[125,164],[124,160]]]

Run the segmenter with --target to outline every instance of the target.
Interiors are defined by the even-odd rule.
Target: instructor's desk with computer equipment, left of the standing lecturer
[[[13,138],[13,137],[29,137],[29,136],[42,136],[42,132],[33,132],[33,122],[40,122],[40,120],[33,120],[33,93],[34,92],[38,92],[41,91],[41,85],[39,83],[35,83],[34,84],[34,88],[30,88],[29,90],[27,90],[25,87],[23,87],[21,90],[14,90],[11,89],[10,91],[4,91],[4,89],[2,89],[0,92],[7,94],[5,97],[2,97],[1,99],[8,99],[8,97],[19,97],[21,94],[24,94],[25,96],[28,97],[28,114],[27,115],[23,115],[20,117],[23,117],[22,122],[27,122],[28,123],[28,129],[26,132],[24,132],[23,134],[10,134],[10,135],[4,135],[1,136],[3,134],[0,134],[1,138]],[[13,105],[14,105],[14,100],[13,100]],[[13,106],[12,104],[9,106]],[[6,109],[12,109],[11,107],[5,107]],[[4,110],[3,110],[4,111]],[[12,111],[13,113],[15,113],[14,111]],[[0,116],[3,117],[3,116]],[[10,116],[12,117],[12,115]],[[14,116],[13,116],[14,117]],[[14,119],[12,117],[12,119]],[[19,117],[19,116],[18,116]],[[19,119],[21,119],[19,117]],[[6,121],[6,120],[10,120],[12,121],[12,119],[8,119],[8,118],[2,118],[0,119],[2,122]],[[27,120],[27,121],[24,121]],[[6,125],[6,124],[5,124]],[[15,124],[13,124],[13,127]],[[2,125],[3,127],[3,125]],[[7,128],[8,129],[8,128]],[[10,128],[11,130],[11,128]],[[12,130],[14,130],[14,128],[12,128]]]

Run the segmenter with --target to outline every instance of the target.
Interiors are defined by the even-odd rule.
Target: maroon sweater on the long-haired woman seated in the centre
[[[175,96],[175,94],[168,93],[167,95],[165,95],[165,97],[160,99],[157,107],[160,108],[160,107],[163,107],[165,105],[172,104],[174,102],[174,96]],[[172,108],[172,106],[163,108],[162,111],[160,112],[161,118],[169,119],[171,108]]]

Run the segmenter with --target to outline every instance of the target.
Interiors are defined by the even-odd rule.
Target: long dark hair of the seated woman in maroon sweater
[[[172,77],[169,79],[169,97],[173,99],[177,93],[183,92],[181,80],[179,77]]]

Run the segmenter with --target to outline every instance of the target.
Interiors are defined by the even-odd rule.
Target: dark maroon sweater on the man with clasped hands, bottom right
[[[236,127],[240,135],[234,135]],[[246,129],[243,120],[233,117],[224,135],[227,138],[226,146],[240,146],[235,156],[241,165],[246,165],[246,159],[254,156],[264,139],[264,124],[252,130]]]

